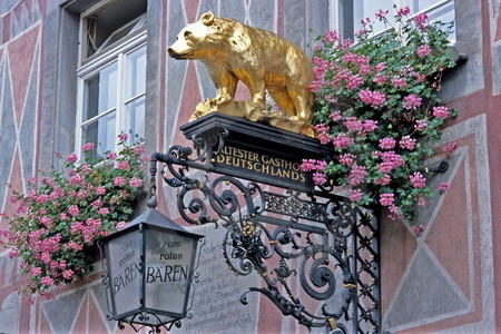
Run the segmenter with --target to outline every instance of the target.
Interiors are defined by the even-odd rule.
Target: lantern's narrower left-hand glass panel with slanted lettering
[[[107,243],[108,275],[115,316],[140,308],[140,247],[141,235],[137,229]]]

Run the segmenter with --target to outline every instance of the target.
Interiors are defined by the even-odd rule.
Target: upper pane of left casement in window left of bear
[[[97,75],[87,79],[84,85],[84,114],[86,121],[117,104],[117,62],[114,62]]]

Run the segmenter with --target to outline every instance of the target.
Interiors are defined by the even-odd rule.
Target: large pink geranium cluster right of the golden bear
[[[386,13],[376,14],[387,27],[384,33],[374,36],[366,19],[356,43],[330,32],[315,48],[314,121],[334,154],[326,166],[303,166],[315,171],[317,185],[331,180],[351,188],[354,205],[375,203],[391,217],[412,219],[414,204],[446,190],[430,189],[420,170],[432,154],[424,141],[440,139],[446,119],[456,116],[436,96],[442,71],[454,66],[448,48],[452,23],[431,23],[424,13],[411,18],[402,8],[395,9],[397,27],[391,27]]]

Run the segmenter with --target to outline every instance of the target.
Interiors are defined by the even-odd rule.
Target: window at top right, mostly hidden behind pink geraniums
[[[385,29],[383,22],[374,20],[374,14],[381,10],[389,10],[387,19],[393,19],[394,8],[409,7],[412,16],[425,12],[431,21],[454,21],[454,0],[331,0],[331,29],[338,30],[343,37],[353,39],[356,31],[362,29],[362,20],[371,18],[374,23],[374,32]],[[450,37],[451,42],[455,36]]]

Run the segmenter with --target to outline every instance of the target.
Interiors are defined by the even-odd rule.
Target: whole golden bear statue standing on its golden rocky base
[[[204,62],[216,86],[216,97],[200,102],[190,121],[219,111],[314,136],[312,66],[293,42],[206,12],[177,35],[168,53],[175,59]],[[234,100],[239,80],[247,86],[252,101]],[[266,110],[266,90],[289,117]]]

